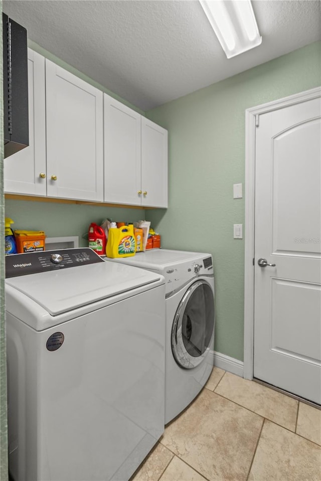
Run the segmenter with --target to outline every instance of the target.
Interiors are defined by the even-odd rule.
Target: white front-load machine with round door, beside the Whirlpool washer
[[[206,384],[214,362],[214,271],[210,254],[156,249],[107,259],[161,274],[166,281],[165,423]]]

